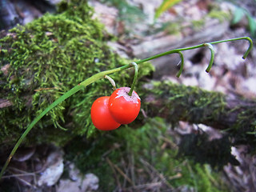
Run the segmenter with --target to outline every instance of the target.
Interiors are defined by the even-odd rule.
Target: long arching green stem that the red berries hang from
[[[231,42],[231,41],[237,41],[237,40],[247,40],[248,42],[250,42],[250,46],[249,48],[246,50],[246,53],[243,55],[242,58],[246,58],[248,56],[248,54],[250,53],[250,50],[253,48],[253,42],[250,38],[248,37],[242,37],[242,38],[231,38],[231,39],[227,39],[227,40],[222,40],[222,41],[217,41],[217,42],[208,42],[208,44],[217,44],[217,43],[221,43],[221,42]],[[180,48],[180,49],[175,49],[175,50],[169,50],[169,51],[166,51],[162,54],[156,54],[152,57],[149,57],[149,58],[144,58],[142,60],[139,60],[138,62],[136,62],[137,64],[140,64],[142,62],[147,62],[147,61],[150,61],[154,58],[160,58],[162,56],[165,56],[167,54],[174,54],[174,53],[178,53],[180,55],[181,54],[181,51],[183,50],[194,50],[194,49],[198,49],[200,47],[203,47],[203,46],[206,46],[206,43],[202,43],[198,46],[189,46],[189,47],[186,47],[186,48]],[[182,59],[182,57],[181,57]],[[135,63],[135,64],[136,64]],[[38,117],[34,118],[33,122],[30,123],[30,125],[26,128],[25,132],[22,134],[22,136],[18,139],[18,142],[15,144],[13,150],[11,150],[10,152],[10,155],[9,157],[7,158],[6,160],[6,163],[5,165],[2,167],[2,170],[0,172],[0,179],[2,178],[2,175],[4,174],[7,166],[9,165],[9,162],[11,160],[11,158],[14,156],[16,150],[18,150],[18,146],[20,146],[20,144],[22,143],[22,141],[24,140],[24,138],[26,138],[26,135],[30,132],[30,130],[34,127],[34,125],[45,115],[47,114],[50,110],[52,110],[55,106],[57,106],[59,103],[63,102],[64,100],[66,100],[66,98],[69,98],[70,96],[72,96],[73,94],[77,93],[78,90],[82,90],[82,88],[90,85],[91,83],[97,81],[98,79],[101,79],[101,78],[104,78],[107,74],[113,74],[113,73],[116,73],[118,71],[121,71],[121,70],[126,70],[130,67],[134,67],[134,70],[135,70],[135,74],[134,74],[134,82],[133,82],[133,85],[131,87],[130,90],[133,90],[134,89],[134,86],[135,86],[135,82],[137,81],[137,75],[138,75],[138,66],[134,65],[134,63],[131,63],[131,64],[128,64],[126,66],[120,66],[118,68],[115,68],[113,70],[106,70],[106,71],[102,71],[98,74],[94,74],[93,76],[91,76],[90,78],[87,78],[85,81],[81,82],[80,84],[78,84],[77,86],[74,86],[74,88],[72,88],[71,90],[67,91],[65,94],[63,94],[60,98],[58,98],[55,102],[53,102],[52,104],[50,104],[50,106],[48,106],[46,108],[46,110],[42,111],[41,114],[38,115]],[[131,92],[132,93],[132,92]]]

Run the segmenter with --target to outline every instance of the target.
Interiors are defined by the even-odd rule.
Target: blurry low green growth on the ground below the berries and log
[[[122,174],[117,170],[114,173],[109,162],[118,166],[128,178],[134,177],[135,186],[144,184],[141,181],[153,182],[152,177],[155,179],[162,174],[174,188],[183,186],[195,191],[228,191],[221,174],[211,170],[210,166],[177,158],[178,151],[169,131],[164,119],[149,118],[139,129],[126,126],[106,132],[94,141],[75,139],[66,146],[66,158],[74,160],[82,172],[96,174],[100,191],[113,191],[118,186],[117,179],[124,183]],[[126,182],[125,187],[130,186]],[[163,185],[161,191],[168,190]]]

